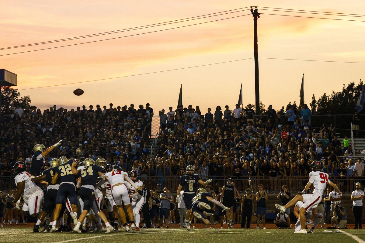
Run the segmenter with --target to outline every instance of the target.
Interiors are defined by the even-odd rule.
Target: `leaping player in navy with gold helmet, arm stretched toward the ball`
[[[41,169],[43,166],[43,157],[49,154],[53,149],[61,145],[62,140],[59,140],[54,145],[46,149],[43,144],[36,144],[33,147],[33,156],[30,161],[29,173],[33,176],[41,175]]]

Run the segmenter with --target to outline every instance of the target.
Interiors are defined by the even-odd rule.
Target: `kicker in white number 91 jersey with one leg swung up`
[[[294,206],[298,201],[303,202],[303,206],[299,209],[299,218],[300,218],[300,230],[295,232],[299,234],[306,234],[306,211],[311,210],[314,206],[316,206],[322,200],[323,191],[326,189],[327,184],[333,187],[338,191],[338,194],[341,195],[342,192],[338,189],[337,185],[335,185],[332,181],[328,179],[328,174],[322,172],[323,171],[323,162],[320,160],[313,161],[311,164],[312,172],[309,173],[309,181],[304,188],[303,192],[308,191],[311,185],[314,185],[313,194],[303,194],[296,195],[289,203],[286,205],[275,204],[277,209],[280,209],[281,212],[285,212],[287,208]]]

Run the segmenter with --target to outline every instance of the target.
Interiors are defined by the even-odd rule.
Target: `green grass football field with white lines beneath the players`
[[[365,240],[365,231],[363,230],[343,230],[351,235],[360,238],[358,241],[351,236],[343,233],[324,232],[317,229],[315,234],[294,234],[294,230],[255,230],[255,229],[197,229],[187,231],[185,229],[141,229],[135,234],[124,231],[113,232],[110,234],[103,233],[33,233],[30,227],[7,227],[0,230],[0,242],[11,243],[61,243],[61,242],[153,242],[153,243],[205,243],[205,242],[222,242],[222,243],[242,243],[247,240],[250,242],[267,242],[267,243],[314,243],[314,242],[361,242]]]

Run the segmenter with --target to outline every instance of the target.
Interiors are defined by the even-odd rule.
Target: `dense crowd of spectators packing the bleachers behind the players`
[[[154,113],[148,103],[139,105],[138,110],[133,104],[129,107],[110,104],[109,108],[104,106],[103,109],[97,105],[95,110],[92,105],[89,109],[82,106],[76,110],[53,106],[43,113],[36,107],[17,107],[14,115],[0,123],[1,176],[14,176],[11,169],[18,161],[24,161],[29,167],[35,144],[50,145],[62,140],[59,149],[44,157],[42,171],[50,167],[53,158],[96,160],[103,157],[107,164],[118,165],[124,172],[137,171],[140,180],[155,181],[157,187],[150,193],[151,207],[156,211],[157,206],[162,205],[160,194],[170,195],[177,191],[178,179],[186,175],[185,169],[189,165],[201,180],[219,181],[206,186],[208,192],[212,191],[212,197],[219,200],[221,187],[226,186],[230,178],[238,191],[247,188],[246,192],[257,191],[259,196],[262,192],[260,181],[266,182],[262,185],[266,192],[282,192],[283,184],[288,184],[289,191],[300,191],[306,182],[303,184],[303,180],[298,179],[307,180],[310,164],[315,160],[323,161],[323,172],[331,179],[361,182],[357,177],[364,175],[364,161],[351,159],[349,139],[345,136],[339,141],[333,124],[312,128],[311,113],[306,105],[300,114],[295,114],[292,106],[285,114],[276,113],[271,105],[265,114],[255,116],[254,113],[251,105],[241,109],[238,104],[233,110],[226,105],[223,111],[217,106],[214,113],[208,108],[205,114],[199,106],[194,109],[192,105],[176,110],[169,107],[167,113],[161,110],[156,156],[151,157],[146,138],[151,135]],[[339,156],[348,160],[342,163]],[[353,183],[346,180],[339,180],[339,183],[340,187],[355,189]],[[241,202],[244,201],[242,205],[249,203],[247,197],[251,200],[250,193],[244,198],[237,194],[233,199],[237,202],[231,210],[235,215],[227,215],[230,219],[226,217],[226,222],[233,219],[231,223],[242,222],[239,217],[243,215]],[[170,199],[175,203],[174,197]],[[176,204],[170,209],[176,211]],[[6,215],[9,215],[8,211]],[[174,215],[173,212],[169,214],[172,222]],[[222,215],[222,212],[218,213],[218,216]],[[151,216],[157,225],[158,214]],[[9,218],[11,216],[7,216]],[[220,220],[223,222],[224,217]]]

